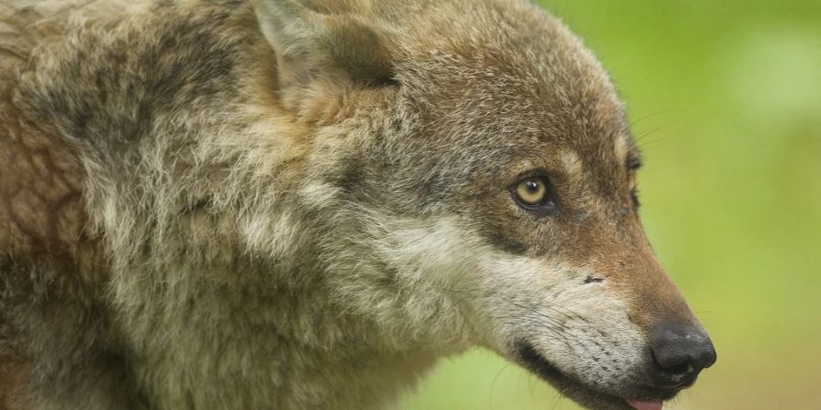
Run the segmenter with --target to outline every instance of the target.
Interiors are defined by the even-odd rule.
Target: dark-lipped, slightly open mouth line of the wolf
[[[515,356],[520,364],[534,374],[538,375],[546,382],[553,384],[558,390],[568,397],[576,400],[579,404],[589,408],[613,409],[613,410],[634,410],[636,408],[661,408],[661,402],[670,400],[678,394],[675,391],[656,391],[641,393],[639,395],[613,395],[603,392],[590,384],[579,381],[576,377],[568,375],[560,370],[555,364],[550,363],[542,354],[536,351],[531,343],[516,343]],[[643,400],[636,400],[641,397]],[[651,397],[648,399],[648,397]],[[645,400],[646,399],[646,400]],[[655,404],[654,407],[640,407],[637,403]]]

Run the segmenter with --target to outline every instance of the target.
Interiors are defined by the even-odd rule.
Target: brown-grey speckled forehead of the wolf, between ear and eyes
[[[380,36],[417,114],[413,149],[441,148],[462,167],[494,155],[506,169],[638,157],[607,73],[556,18],[506,0],[423,3]]]

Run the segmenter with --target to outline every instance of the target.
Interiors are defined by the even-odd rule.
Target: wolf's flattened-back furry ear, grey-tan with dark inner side
[[[352,15],[317,13],[293,0],[253,0],[256,18],[277,55],[282,87],[319,78],[369,86],[395,84],[386,36]]]

